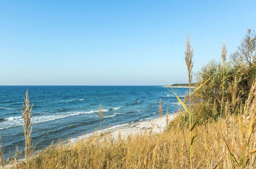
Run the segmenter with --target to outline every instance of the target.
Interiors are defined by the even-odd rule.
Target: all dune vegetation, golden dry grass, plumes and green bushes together
[[[134,137],[95,134],[86,140],[51,145],[14,168],[254,168],[256,165],[256,36],[248,30],[238,50],[210,61],[184,102],[185,111],[160,134]],[[185,60],[192,86],[193,49]],[[167,88],[169,89],[169,88]],[[175,94],[175,92],[169,89]],[[159,101],[162,117],[162,101]],[[99,117],[101,123],[102,108]],[[168,109],[167,109],[168,112]],[[168,114],[168,113],[167,113]],[[25,118],[24,118],[25,119]],[[25,135],[26,136],[26,135]],[[2,160],[3,161],[3,160]],[[10,163],[17,162],[16,159]]]

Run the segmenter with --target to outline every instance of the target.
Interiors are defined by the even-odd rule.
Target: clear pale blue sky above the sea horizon
[[[0,85],[171,85],[256,29],[256,1],[0,1]],[[196,81],[194,79],[193,81]]]

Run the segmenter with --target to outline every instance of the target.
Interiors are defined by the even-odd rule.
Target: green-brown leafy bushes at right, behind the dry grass
[[[227,112],[240,113],[256,78],[256,35],[251,32],[248,30],[238,50],[231,54],[230,60],[226,59],[224,46],[222,62],[212,60],[196,73],[198,83],[191,95],[193,119],[197,118],[200,123],[204,123],[220,116],[225,118]],[[251,61],[248,61],[248,57]],[[188,101],[189,96],[186,96],[185,102]],[[185,116],[189,118],[187,114]]]

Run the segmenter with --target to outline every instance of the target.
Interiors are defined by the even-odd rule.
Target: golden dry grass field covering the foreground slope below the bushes
[[[248,145],[239,116],[199,125],[194,144],[193,168],[253,167],[255,130]],[[219,125],[219,127],[218,127]],[[127,140],[93,136],[70,146],[50,146],[30,161],[31,168],[188,168],[189,128],[173,128],[159,135],[144,133]],[[254,143],[253,143],[254,142]],[[233,158],[234,157],[234,158]],[[243,158],[242,158],[243,157]],[[234,160],[235,159],[235,160]],[[244,160],[243,160],[244,159]],[[237,162],[235,162],[237,161]],[[17,167],[24,167],[21,163]]]

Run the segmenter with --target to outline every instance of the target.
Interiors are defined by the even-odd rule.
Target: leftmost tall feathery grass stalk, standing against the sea
[[[24,130],[24,136],[25,136],[26,168],[29,168],[29,158],[32,154],[32,151],[31,151],[31,132],[32,132],[31,119],[32,119],[33,113],[32,113],[32,106],[30,107],[30,103],[29,103],[28,90],[26,92],[25,105],[23,104],[23,110],[21,109],[21,111],[22,111],[23,120],[24,120],[23,130]]]

